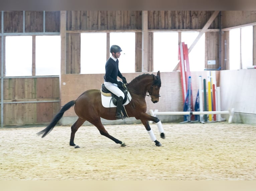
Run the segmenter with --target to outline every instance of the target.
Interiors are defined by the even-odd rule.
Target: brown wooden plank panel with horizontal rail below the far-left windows
[[[59,111],[59,78],[4,79],[4,124],[48,123]]]

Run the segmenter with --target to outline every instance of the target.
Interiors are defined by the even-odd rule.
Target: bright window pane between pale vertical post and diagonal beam
[[[154,32],[154,72],[172,72],[178,64],[178,33]]]

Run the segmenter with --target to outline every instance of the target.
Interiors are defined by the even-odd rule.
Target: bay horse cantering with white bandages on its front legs
[[[164,130],[162,128],[161,121],[154,116],[151,116],[146,113],[147,104],[145,97],[151,97],[153,103],[159,101],[159,91],[161,87],[161,78],[160,72],[157,72],[157,75],[154,74],[142,74],[135,79],[133,79],[129,84],[126,84],[126,87],[132,97],[130,102],[125,105],[126,113],[129,117],[135,117],[136,119],[141,120],[142,124],[145,126],[150,138],[155,142],[156,146],[161,146],[161,143],[156,140],[156,137],[149,126],[148,121],[153,121],[157,124],[158,131],[160,132],[160,137],[165,138]],[[37,133],[37,135],[42,135],[42,138],[46,136],[53,127],[57,124],[60,118],[63,116],[64,112],[71,108],[73,105],[75,113],[78,116],[77,121],[71,126],[71,137],[70,137],[70,146],[75,148],[80,148],[74,143],[75,134],[78,128],[83,125],[85,121],[89,121],[95,125],[100,131],[101,135],[104,135],[115,143],[121,144],[121,146],[126,146],[124,142],[116,139],[111,136],[101,122],[101,117],[107,120],[116,120],[116,108],[106,108],[103,107],[101,102],[101,92],[100,90],[87,90],[81,94],[76,100],[69,101],[61,110],[55,115],[50,124],[43,130]]]

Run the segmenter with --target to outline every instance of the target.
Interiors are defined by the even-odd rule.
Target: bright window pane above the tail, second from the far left
[[[35,75],[60,75],[60,36],[36,36]]]

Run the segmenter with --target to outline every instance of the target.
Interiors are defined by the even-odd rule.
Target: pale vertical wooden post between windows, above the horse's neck
[[[148,12],[142,11],[142,67],[141,72],[148,72]]]

